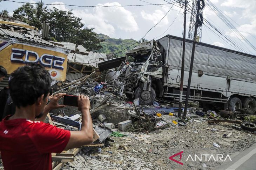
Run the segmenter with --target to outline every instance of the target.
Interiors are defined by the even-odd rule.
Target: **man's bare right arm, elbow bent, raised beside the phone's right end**
[[[89,109],[89,97],[78,95],[78,110],[82,112],[81,131],[70,131],[70,139],[65,149],[77,148],[93,142],[93,122]]]

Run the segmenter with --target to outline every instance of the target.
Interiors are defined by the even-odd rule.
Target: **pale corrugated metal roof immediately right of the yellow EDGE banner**
[[[105,53],[97,53],[92,51],[87,51],[88,56],[82,54],[69,53],[68,60],[71,62],[78,62],[83,65],[88,65],[92,67],[97,67],[97,64],[106,61],[107,55]]]

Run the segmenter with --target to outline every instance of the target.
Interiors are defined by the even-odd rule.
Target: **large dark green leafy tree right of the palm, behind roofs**
[[[49,24],[49,34],[58,41],[83,45],[87,50],[99,50],[100,42],[93,29],[83,28],[82,19],[75,17],[72,10],[62,11],[56,8],[48,10],[46,23]]]

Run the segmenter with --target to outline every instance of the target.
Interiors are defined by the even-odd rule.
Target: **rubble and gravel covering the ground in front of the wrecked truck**
[[[186,161],[184,158],[189,154],[212,153],[229,154],[232,158],[236,152],[256,142],[253,130],[244,130],[242,126],[234,128],[240,127],[244,121],[253,123],[255,116],[222,110],[206,111],[198,102],[192,102],[187,117],[181,119],[177,117],[178,108],[173,101],[162,99],[155,101],[154,105],[135,104],[123,94],[126,84],[118,78],[107,79],[105,72],[77,74],[76,79],[71,80],[70,76],[67,77],[66,82],[56,82],[53,91],[55,94],[79,93],[90,97],[96,137],[91,145],[79,148],[76,153],[66,151],[73,153],[74,161],[55,161],[54,170],[215,169],[222,162]],[[60,128],[79,130],[80,114],[76,107],[67,106],[53,110],[49,120]],[[182,150],[183,167],[169,159]]]

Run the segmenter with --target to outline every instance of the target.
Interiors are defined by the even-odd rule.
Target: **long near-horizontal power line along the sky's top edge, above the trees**
[[[12,1],[12,0],[2,0],[2,1],[9,1],[9,2],[16,2],[16,3],[29,3],[29,4],[37,4],[36,2],[19,2],[19,1]],[[152,6],[152,5],[168,5],[171,3],[159,3],[159,4],[142,4],[142,5],[110,5],[110,6],[104,6],[104,5],[67,5],[67,4],[50,4],[50,3],[44,3],[44,5],[55,5],[55,6],[72,6],[72,7],[137,7],[137,6]]]

